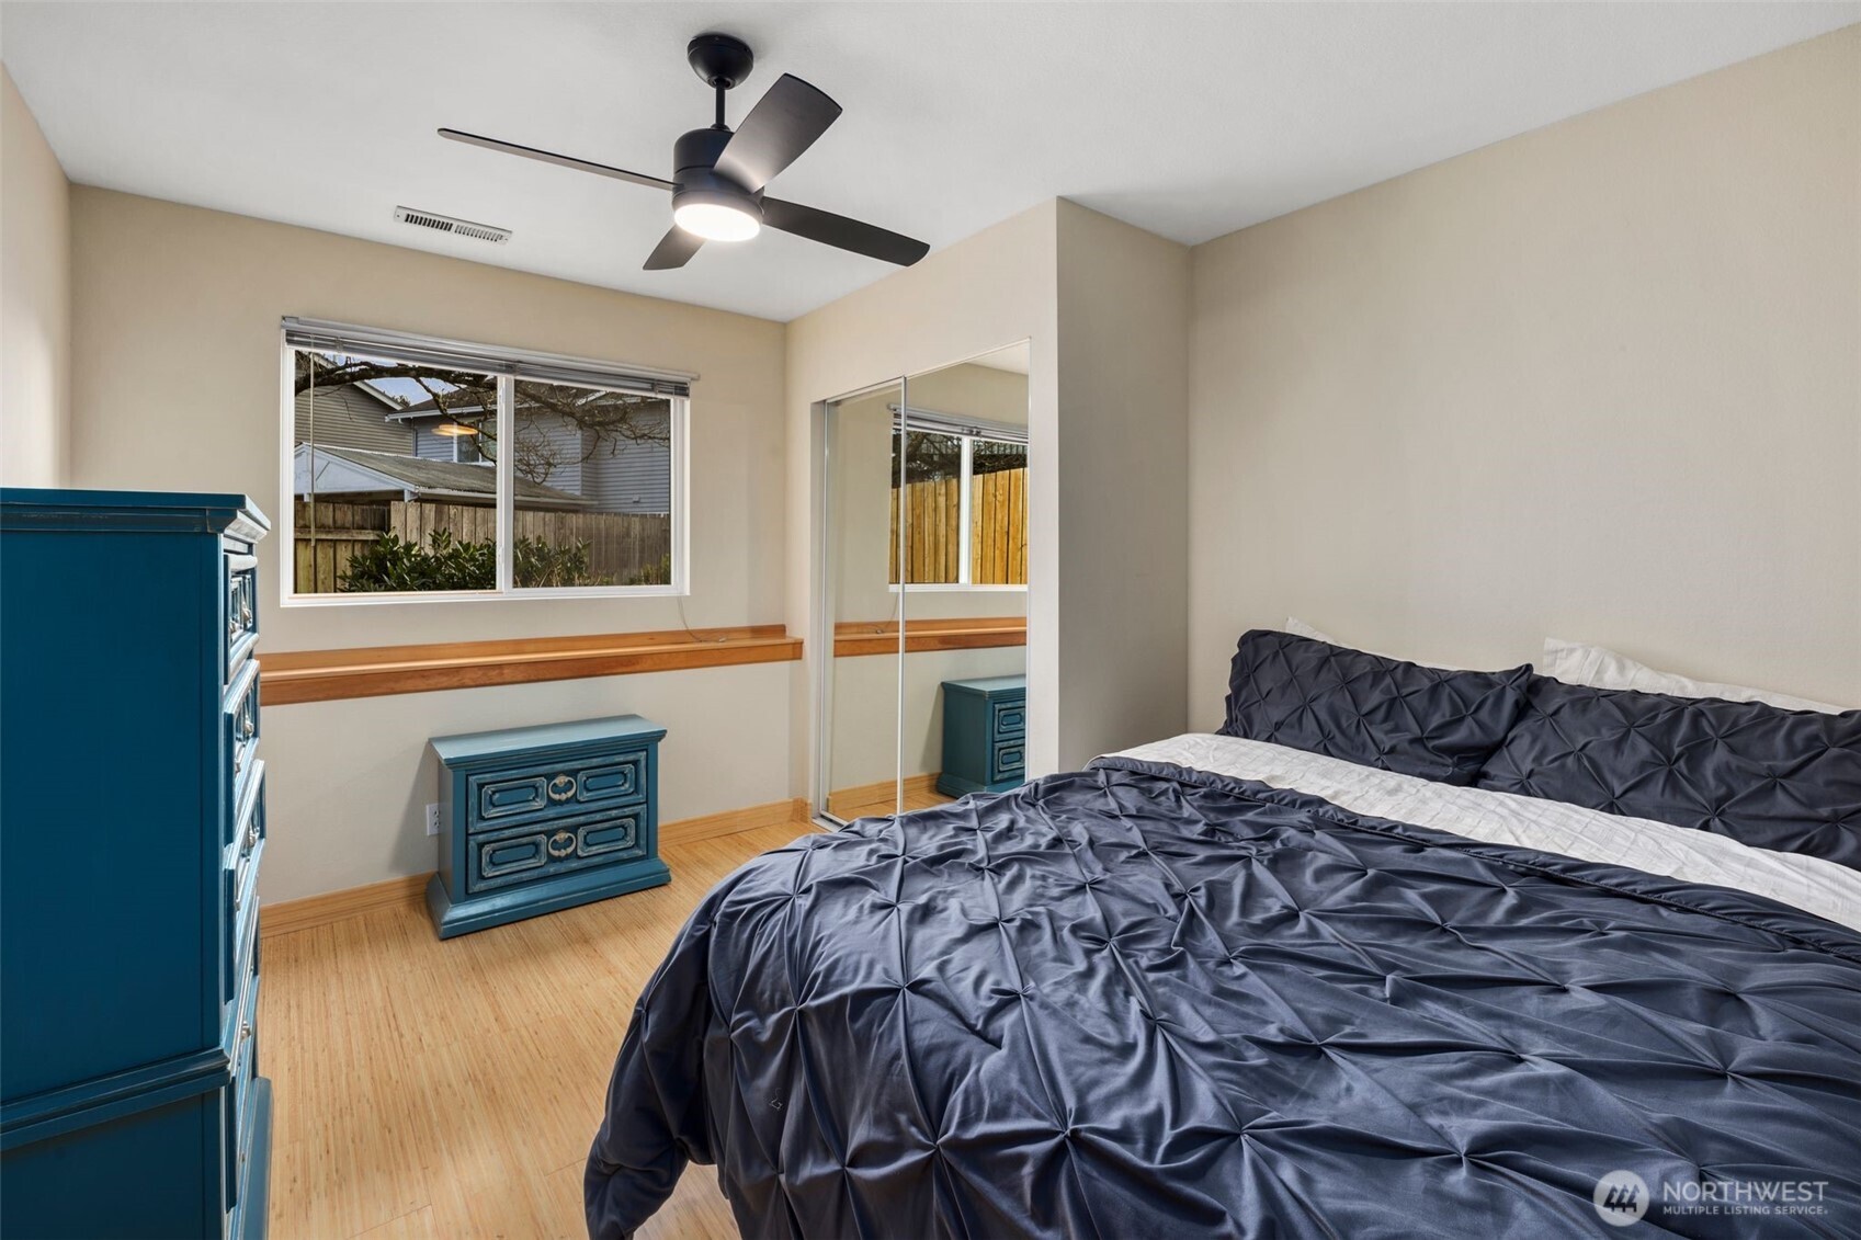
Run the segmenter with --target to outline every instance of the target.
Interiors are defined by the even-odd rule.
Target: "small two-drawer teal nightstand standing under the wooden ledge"
[[[638,715],[443,735],[441,938],[672,881],[659,860],[659,741]]]

